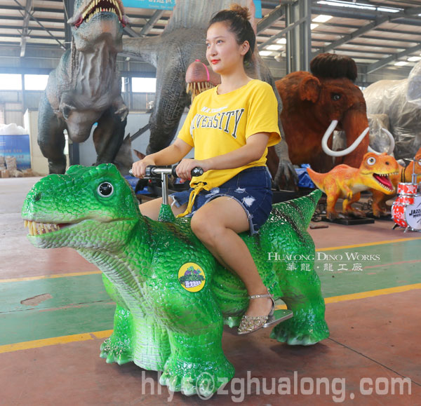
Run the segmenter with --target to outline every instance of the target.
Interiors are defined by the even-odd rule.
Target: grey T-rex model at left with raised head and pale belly
[[[121,98],[116,56],[127,23],[121,0],[76,0],[72,48],[48,77],[39,104],[38,143],[50,173],[64,173],[67,129],[72,142],[86,141],[91,128],[98,163],[112,163],[121,147],[128,109]]]

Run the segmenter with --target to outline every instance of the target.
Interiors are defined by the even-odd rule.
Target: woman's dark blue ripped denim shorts
[[[238,201],[246,211],[250,224],[250,235],[256,234],[272,210],[271,186],[271,177],[266,166],[247,168],[219,187],[214,187],[210,191],[200,191],[194,199],[192,212],[185,217],[192,217],[196,210],[214,198],[229,196]],[[187,203],[192,190],[190,188],[171,194],[173,204],[180,207]]]

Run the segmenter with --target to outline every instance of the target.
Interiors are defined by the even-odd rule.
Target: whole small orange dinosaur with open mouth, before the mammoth
[[[328,196],[326,209],[328,219],[339,217],[335,210],[338,198],[344,199],[342,212],[364,217],[365,214],[361,210],[352,208],[352,203],[359,201],[363,190],[376,189],[385,194],[393,194],[394,186],[389,176],[399,173],[399,164],[392,156],[368,152],[363,156],[359,168],[341,164],[327,173],[314,172],[310,168],[307,168],[307,172],[314,184]]]

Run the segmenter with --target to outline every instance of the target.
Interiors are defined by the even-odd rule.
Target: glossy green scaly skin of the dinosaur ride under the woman
[[[114,187],[107,197],[98,192],[103,182]],[[315,344],[328,337],[320,281],[313,261],[306,270],[288,271],[287,262],[269,261],[268,253],[314,258],[307,226],[320,196],[314,191],[278,203],[258,235],[241,235],[269,290],[294,313],[271,334],[288,344]],[[168,205],[162,206],[158,222],[142,217],[131,187],[112,164],[75,165],[65,175],[41,179],[27,195],[22,217],[61,226],[28,236],[36,247],[75,248],[103,272],[105,289],[117,305],[114,332],[101,346],[107,363],[133,361],[162,370],[161,384],[187,395],[216,391],[222,379],[234,376],[222,352],[222,325],[238,325],[247,292],[194,236],[189,219],[175,219]],[[178,280],[187,262],[205,274],[198,292],[187,291]],[[207,388],[203,372],[213,375],[213,388]]]

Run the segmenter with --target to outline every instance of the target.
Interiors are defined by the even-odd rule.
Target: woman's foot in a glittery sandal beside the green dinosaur
[[[274,313],[275,302],[269,292],[261,295],[250,295],[248,309],[239,325],[239,334],[248,334],[264,327]]]

